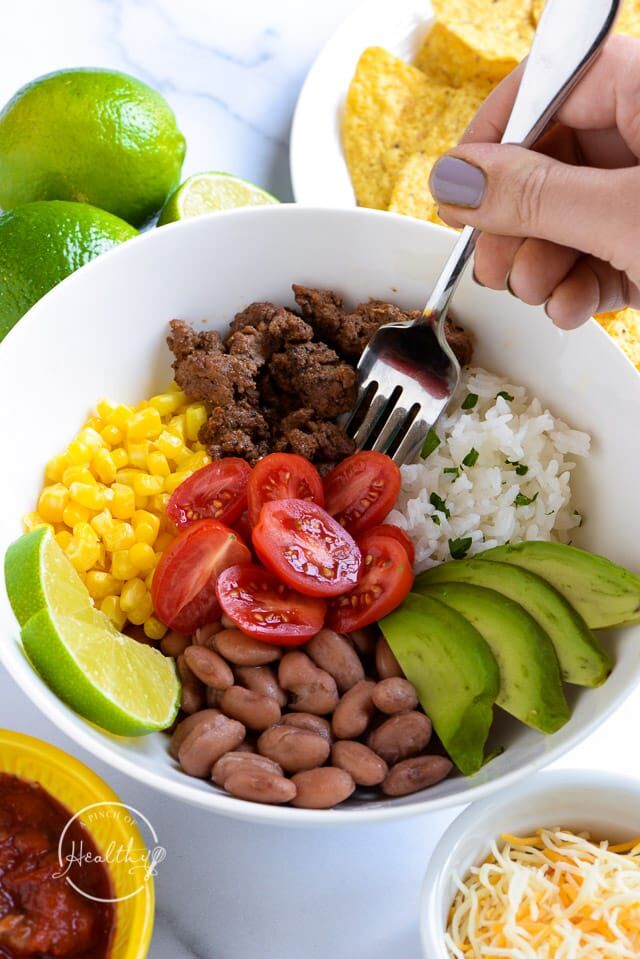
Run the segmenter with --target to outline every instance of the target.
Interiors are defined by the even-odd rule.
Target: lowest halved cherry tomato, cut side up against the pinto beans
[[[301,596],[261,566],[231,566],[218,577],[218,602],[248,636],[300,646],[322,629],[327,604]]]

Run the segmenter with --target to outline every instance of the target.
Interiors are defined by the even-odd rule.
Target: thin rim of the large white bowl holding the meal
[[[90,277],[93,272],[105,269],[106,264],[110,264],[112,261],[116,262],[118,258],[122,259],[128,256],[127,250],[129,250],[129,248],[137,249],[141,244],[151,245],[154,242],[162,242],[160,237],[165,237],[169,231],[175,233],[177,237],[189,232],[197,233],[198,230],[206,231],[206,224],[214,221],[224,224],[224,222],[228,220],[238,220],[242,218],[247,221],[247,228],[250,228],[251,222],[256,217],[262,217],[264,219],[284,218],[291,219],[292,221],[299,219],[300,222],[302,222],[309,216],[317,217],[320,220],[342,219],[347,221],[376,219],[380,221],[381,224],[388,223],[390,226],[395,224],[396,227],[402,224],[401,229],[417,230],[424,234],[438,236],[440,242],[444,237],[447,238],[447,241],[451,245],[455,241],[455,232],[447,227],[417,220],[412,217],[406,217],[401,214],[389,213],[383,210],[371,210],[363,207],[341,208],[281,203],[272,206],[245,207],[205,214],[203,216],[166,224],[159,230],[151,230],[140,234],[92,260],[86,266],[68,276],[34,304],[20,322],[7,334],[3,342],[10,342],[12,345],[15,344],[18,346],[21,338],[28,340],[32,335],[32,329],[35,330],[37,328],[34,324],[39,322],[40,314],[47,311],[50,305],[54,305],[57,297],[64,296],[64,290],[66,290],[69,285],[78,282],[90,282]],[[63,292],[61,293],[61,291]],[[600,338],[602,347],[604,349],[615,350],[616,363],[620,364],[620,372],[622,373],[624,371],[625,376],[637,376],[637,371],[630,359],[615,346],[605,330],[595,320],[590,320],[589,322],[594,328],[594,333]],[[308,810],[294,809],[288,806],[261,805],[237,798],[231,800],[229,796],[218,793],[213,789],[202,789],[199,781],[197,784],[192,784],[189,777],[185,776],[184,782],[176,782],[175,780],[168,779],[163,773],[140,766],[134,758],[129,758],[128,756],[115,752],[111,748],[110,737],[107,732],[97,730],[97,727],[93,727],[86,720],[82,719],[82,717],[68,710],[68,707],[54,696],[48,687],[46,687],[44,681],[28,663],[18,636],[16,636],[14,641],[12,641],[10,637],[7,637],[5,642],[6,646],[2,659],[8,672],[20,689],[28,695],[32,702],[34,702],[59,729],[68,735],[72,741],[86,749],[97,759],[106,762],[108,765],[130,776],[137,782],[144,783],[191,805],[234,819],[250,820],[284,827],[304,828],[307,826],[329,824],[355,825],[358,823],[399,820],[427,812],[438,812],[446,808],[481,800],[484,797],[512,786],[518,780],[523,779],[536,770],[548,766],[554,760],[575,748],[586,739],[601,722],[612,715],[626,698],[631,695],[635,686],[640,684],[639,672],[635,678],[635,683],[630,683],[629,687],[618,696],[615,702],[602,708],[596,717],[586,723],[583,728],[575,731],[567,742],[560,742],[556,745],[549,742],[544,754],[530,760],[522,768],[514,769],[504,774],[499,779],[477,785],[469,785],[471,780],[466,779],[466,790],[457,795],[429,798],[428,794],[426,794],[425,798],[407,804],[392,803],[388,806],[382,806],[374,802],[361,807]],[[50,697],[52,696],[56,701],[57,708],[55,708],[55,710],[52,710],[50,701]],[[99,733],[99,736],[96,735],[96,732]],[[551,740],[552,737],[549,737],[549,739]]]

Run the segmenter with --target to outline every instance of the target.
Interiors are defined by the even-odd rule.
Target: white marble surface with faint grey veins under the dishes
[[[304,75],[355,0],[20,0],[3,11],[0,102],[51,70],[122,69],[160,89],[188,141],[185,173],[229,170],[291,199],[287,136]],[[1,667],[0,667],[1,669]],[[563,765],[632,772],[640,700]],[[216,819],[77,749],[0,671],[0,726],[75,753],[154,823],[152,959],[418,959],[429,850],[453,812],[375,827],[274,830]]]

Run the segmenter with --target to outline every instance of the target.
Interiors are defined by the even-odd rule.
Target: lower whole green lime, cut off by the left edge
[[[0,216],[0,340],[65,276],[137,235],[87,203],[43,200]]]

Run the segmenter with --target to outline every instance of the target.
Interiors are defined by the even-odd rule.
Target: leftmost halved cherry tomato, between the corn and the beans
[[[228,566],[250,562],[244,543],[218,520],[191,523],[156,566],[151,585],[156,616],[185,636],[215,622],[220,615],[216,579]]]

